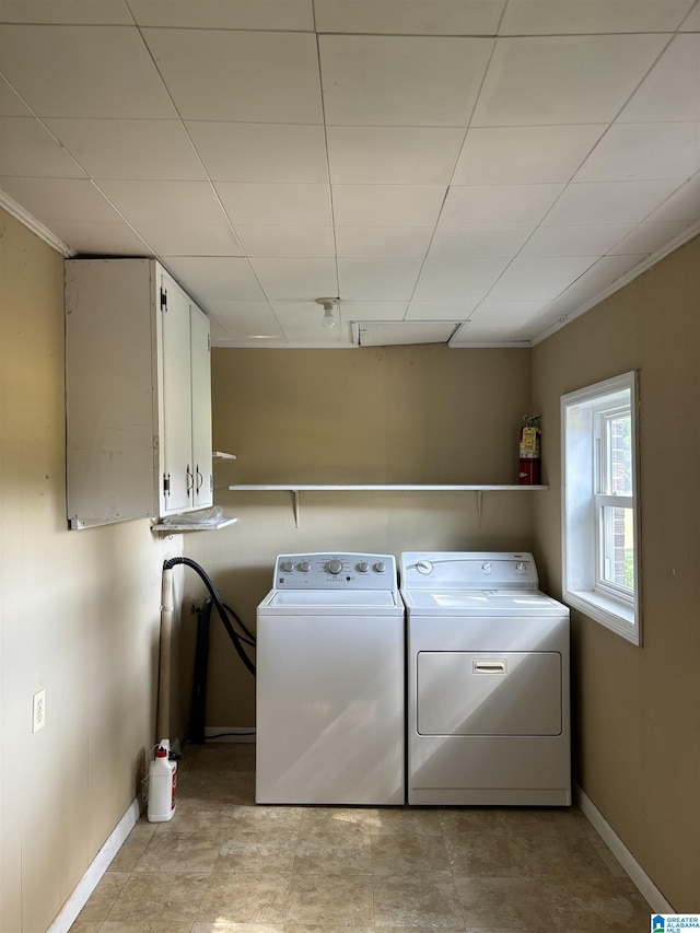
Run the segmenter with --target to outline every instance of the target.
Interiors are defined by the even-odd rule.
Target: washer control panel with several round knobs
[[[276,590],[397,590],[396,558],[387,553],[284,553],[275,564]]]

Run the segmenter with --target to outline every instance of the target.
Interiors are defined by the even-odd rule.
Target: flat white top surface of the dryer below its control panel
[[[402,590],[407,608],[427,616],[541,616],[569,611],[539,591]]]

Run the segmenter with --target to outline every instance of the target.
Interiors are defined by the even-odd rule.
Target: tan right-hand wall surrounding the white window
[[[561,592],[562,393],[632,369],[641,401],[643,646],[573,614],[576,778],[678,911],[700,891],[700,240],[538,345],[535,538]]]

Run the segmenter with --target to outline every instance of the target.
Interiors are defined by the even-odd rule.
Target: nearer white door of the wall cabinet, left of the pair
[[[162,348],[161,514],[191,508],[189,300],[166,275],[159,296]]]

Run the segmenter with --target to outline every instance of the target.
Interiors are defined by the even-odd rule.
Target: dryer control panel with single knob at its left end
[[[406,551],[402,590],[537,590],[535,558],[525,552]]]

